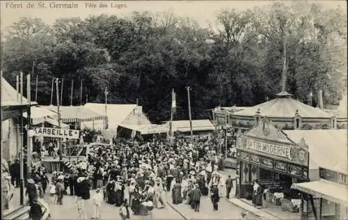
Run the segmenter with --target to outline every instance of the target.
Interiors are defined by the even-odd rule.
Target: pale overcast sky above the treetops
[[[35,8],[26,8],[28,3],[34,3]],[[191,17],[196,19],[202,27],[206,27],[208,22],[215,24],[216,12],[223,8],[235,8],[238,11],[252,9],[255,6],[264,6],[274,3],[274,1],[41,1],[45,2],[47,8],[38,8],[40,1],[3,1],[1,0],[1,29],[16,22],[19,17],[40,17],[47,24],[53,24],[58,17],[81,17],[88,15],[118,15],[124,17],[133,11],[171,12],[181,17]],[[283,1],[290,3],[290,1]],[[311,1],[310,1],[311,2]],[[316,1],[328,8],[337,8],[339,5],[342,10],[347,10],[346,1]],[[10,8],[10,3],[22,3],[22,8]],[[53,4],[76,3],[78,8],[58,9],[50,8]],[[85,3],[107,4],[108,8],[86,8]],[[125,4],[127,8],[111,8],[111,3]],[[14,5],[12,5],[14,6]]]

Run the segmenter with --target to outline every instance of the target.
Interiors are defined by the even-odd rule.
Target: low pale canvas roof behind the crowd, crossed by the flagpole
[[[170,125],[170,122],[166,122],[166,125]],[[173,130],[177,132],[189,132],[190,131],[189,120],[173,120]],[[208,119],[192,120],[193,131],[211,131],[214,130],[214,125]]]

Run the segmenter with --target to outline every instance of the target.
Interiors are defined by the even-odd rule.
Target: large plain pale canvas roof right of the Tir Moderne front
[[[328,168],[340,173],[348,173],[347,166],[347,130],[315,129],[283,131],[292,141],[299,143],[303,138],[308,145],[310,155],[309,168]]]

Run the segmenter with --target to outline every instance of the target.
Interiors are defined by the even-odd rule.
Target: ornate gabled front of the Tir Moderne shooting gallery
[[[295,143],[264,118],[253,129],[237,134],[239,198],[251,200],[253,180],[264,189],[264,201],[299,212],[301,194],[293,183],[308,182],[309,152],[304,141]]]

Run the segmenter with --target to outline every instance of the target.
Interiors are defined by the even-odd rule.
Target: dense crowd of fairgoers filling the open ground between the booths
[[[81,219],[87,219],[84,201],[90,199],[90,189],[96,192],[95,219],[100,217],[102,203],[120,207],[122,219],[128,219],[130,212],[151,214],[154,208],[166,207],[169,193],[173,204],[186,203],[195,212],[200,211],[201,196],[210,195],[216,211],[221,187],[226,185],[228,189],[231,184],[219,173],[222,168],[223,159],[216,155],[216,144],[210,136],[196,136],[192,141],[123,140],[112,146],[90,147],[85,159],[65,168],[65,173],[54,171],[51,180],[43,166],[33,170],[26,181],[26,195],[34,207],[33,219],[40,216],[35,204],[41,204],[47,189],[58,205],[63,205],[65,195],[76,196]]]

